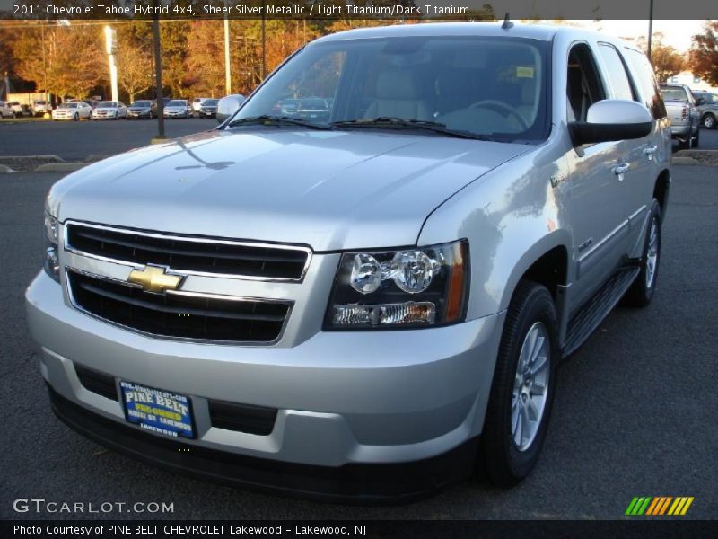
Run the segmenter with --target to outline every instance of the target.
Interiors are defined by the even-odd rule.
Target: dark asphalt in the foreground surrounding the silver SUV
[[[44,498],[96,506],[173,503],[172,513],[151,517],[182,519],[613,519],[635,496],[693,496],[687,517],[716,517],[718,168],[674,167],[654,302],[640,311],[617,308],[562,366],[535,473],[512,490],[467,482],[388,508],[284,499],[186,479],[105,451],[55,419],[26,328],[23,292],[41,263],[44,196],[60,177],[0,175],[0,518],[78,517],[13,511],[14,499]]]

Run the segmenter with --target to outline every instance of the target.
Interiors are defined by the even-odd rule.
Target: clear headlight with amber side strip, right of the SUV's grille
[[[328,330],[428,327],[461,322],[468,243],[342,255],[325,319]]]

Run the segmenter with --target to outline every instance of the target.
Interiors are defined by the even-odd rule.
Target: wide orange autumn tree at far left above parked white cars
[[[11,45],[15,73],[60,97],[83,97],[107,71],[101,27],[71,24],[22,28]]]

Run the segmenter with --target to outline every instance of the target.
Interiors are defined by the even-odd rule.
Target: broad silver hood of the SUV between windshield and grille
[[[531,146],[398,131],[208,131],[92,164],[50,191],[68,218],[315,251],[416,243],[434,208]]]

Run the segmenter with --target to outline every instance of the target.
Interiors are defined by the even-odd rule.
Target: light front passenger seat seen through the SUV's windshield
[[[432,119],[428,103],[421,98],[416,77],[406,69],[382,71],[376,83],[376,99],[364,118]]]

